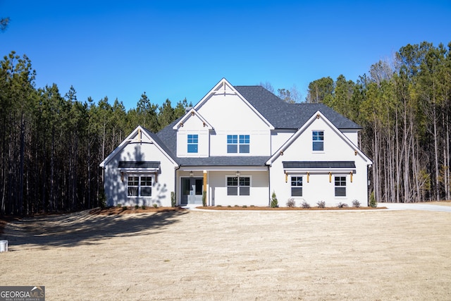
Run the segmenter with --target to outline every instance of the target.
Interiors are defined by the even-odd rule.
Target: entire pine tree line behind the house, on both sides
[[[343,75],[309,84],[307,103],[323,103],[362,125],[359,147],[373,159],[378,202],[450,197],[451,43],[402,47],[357,82]],[[77,99],[73,87],[35,87],[27,56],[0,61],[0,214],[73,211],[101,204],[99,164],[137,125],[154,133],[183,116],[186,99],[134,109],[108,97]],[[261,84],[273,91],[268,82]],[[287,102],[299,92],[279,89]]]

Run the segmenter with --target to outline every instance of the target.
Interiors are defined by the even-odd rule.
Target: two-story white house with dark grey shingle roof
[[[159,133],[138,126],[101,163],[108,205],[368,204],[361,128],[323,104],[288,104],[226,79]],[[172,193],[171,193],[172,192]]]

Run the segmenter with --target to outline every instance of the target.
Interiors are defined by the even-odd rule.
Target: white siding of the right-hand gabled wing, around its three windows
[[[313,151],[313,131],[323,132],[323,151]],[[367,166],[370,161],[324,116],[312,118],[310,123],[300,129],[289,142],[289,145],[280,149],[279,154],[273,156],[271,162],[271,193],[276,192],[280,206],[285,206],[291,198],[295,200],[297,207],[301,206],[302,202],[316,207],[319,201],[326,202],[326,207],[336,207],[340,202],[351,207],[354,199],[357,199],[362,206],[367,205]],[[347,161],[354,162],[355,168],[299,168],[298,170],[284,168],[283,162],[290,161]],[[292,196],[292,176],[302,176],[302,196]],[[345,196],[335,196],[335,176],[345,177]]]

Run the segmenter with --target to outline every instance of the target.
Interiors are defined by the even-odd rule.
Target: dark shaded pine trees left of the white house
[[[99,164],[137,125],[153,132],[183,116],[186,99],[135,109],[108,97],[81,102],[73,87],[35,87],[27,56],[0,61],[0,214],[98,207],[104,197]]]

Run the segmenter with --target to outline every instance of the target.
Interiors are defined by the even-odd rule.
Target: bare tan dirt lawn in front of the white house
[[[8,223],[0,285],[44,285],[47,300],[451,300],[448,212],[96,213]]]

